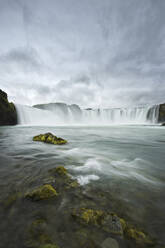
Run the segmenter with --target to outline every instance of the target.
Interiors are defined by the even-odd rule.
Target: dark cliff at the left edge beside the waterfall
[[[7,94],[0,90],[0,126],[16,124],[16,108],[13,103],[8,102]]]

